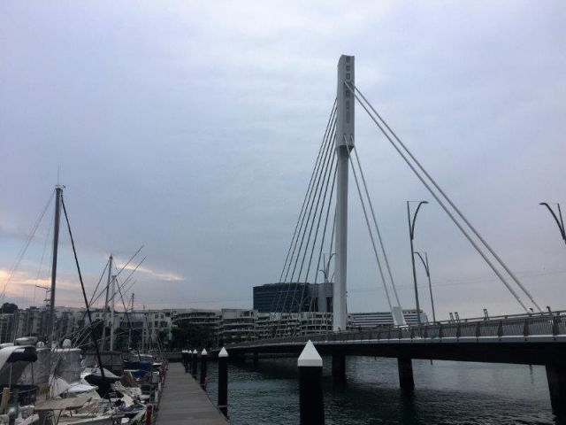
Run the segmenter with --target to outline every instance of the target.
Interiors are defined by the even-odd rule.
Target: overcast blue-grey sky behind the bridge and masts
[[[539,304],[566,309],[566,245],[539,206],[566,208],[564,16],[558,1],[4,1],[0,280],[59,168],[89,292],[111,253],[123,265],[144,244],[137,306],[251,307],[253,286],[279,280],[348,54],[356,85]],[[432,197],[359,107],[356,149],[414,307],[405,203]],[[52,214],[6,301],[42,303]],[[386,310],[353,186],[349,232],[348,311]],[[440,319],[521,312],[439,205],[416,233]],[[57,305],[80,306],[61,239]]]

